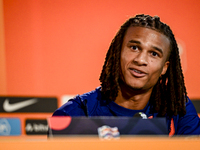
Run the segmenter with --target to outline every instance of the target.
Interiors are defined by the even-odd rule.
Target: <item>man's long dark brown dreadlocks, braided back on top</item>
[[[182,73],[179,50],[170,27],[160,21],[158,16],[136,15],[127,20],[117,32],[106,54],[105,63],[100,75],[101,92],[104,99],[114,101],[118,95],[121,73],[120,56],[123,38],[130,26],[140,26],[156,30],[170,40],[169,67],[165,75],[159,78],[153,88],[150,103],[152,111],[159,116],[184,115],[187,92]]]

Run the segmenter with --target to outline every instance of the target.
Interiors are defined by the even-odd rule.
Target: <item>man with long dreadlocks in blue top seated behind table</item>
[[[166,117],[175,134],[200,134],[200,120],[187,97],[179,51],[159,17],[136,15],[113,39],[100,76],[101,87],[77,95],[53,116]],[[171,124],[173,121],[173,124]]]

